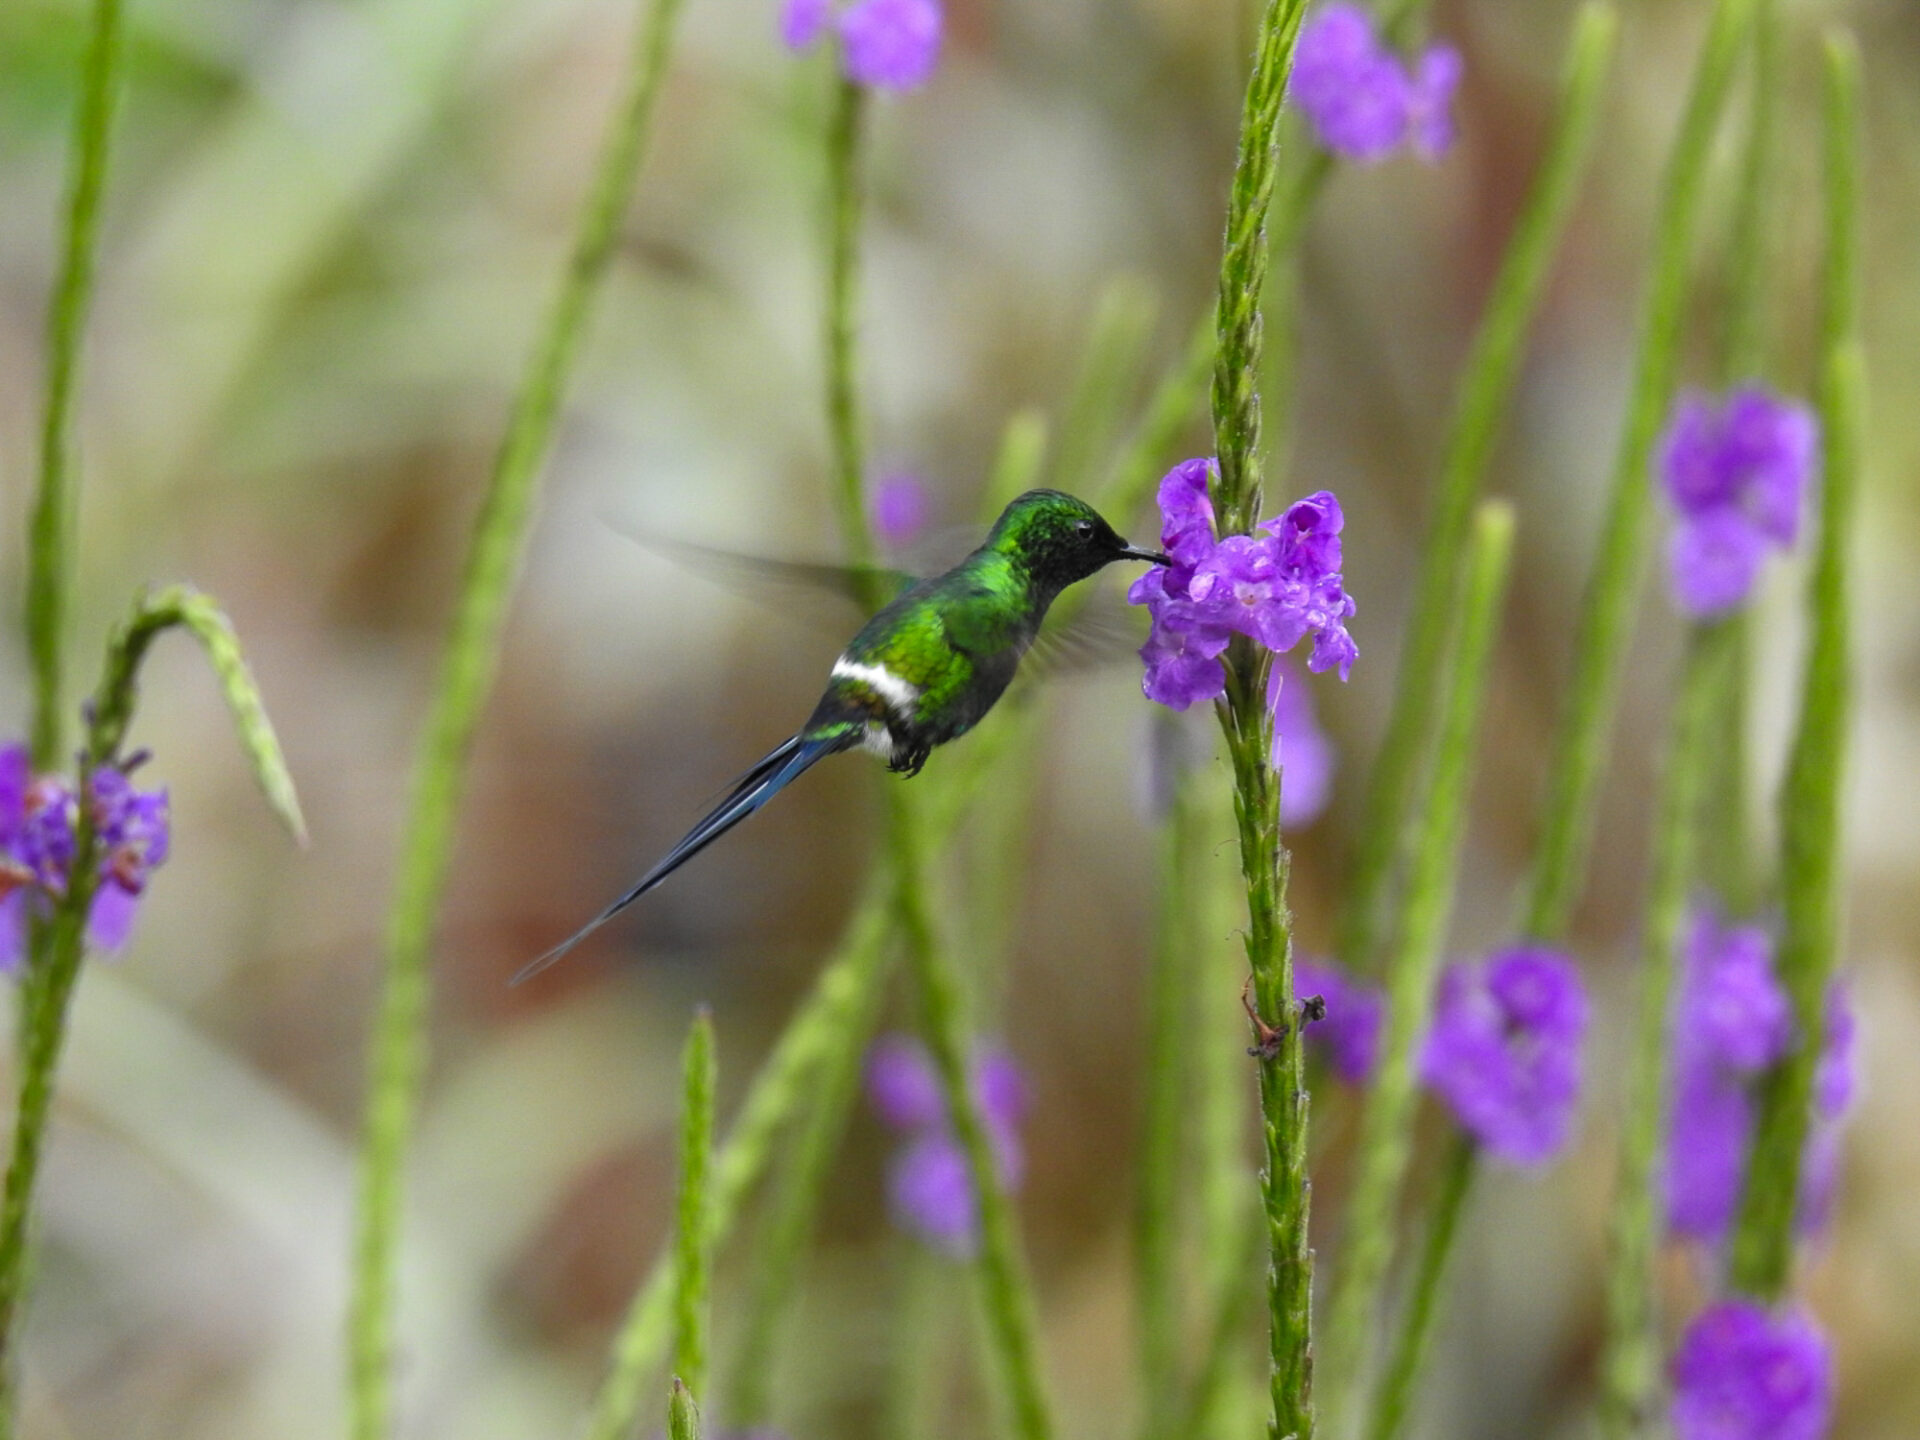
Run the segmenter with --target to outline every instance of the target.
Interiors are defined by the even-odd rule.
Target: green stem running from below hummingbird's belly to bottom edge
[[[899,866],[899,925],[906,958],[920,991],[927,1050],[941,1081],[941,1094],[954,1139],[968,1160],[968,1179],[979,1210],[981,1298],[987,1331],[998,1357],[998,1373],[1008,1388],[1014,1434],[1020,1440],[1046,1440],[1052,1419],[1041,1386],[1037,1306],[1033,1281],[1020,1252],[1014,1206],[1000,1185],[993,1142],[979,1114],[970,1081],[970,1041],[960,1004],[960,985],[933,929],[927,885],[924,824],[925,816],[912,791],[887,789],[887,822],[893,860]]]

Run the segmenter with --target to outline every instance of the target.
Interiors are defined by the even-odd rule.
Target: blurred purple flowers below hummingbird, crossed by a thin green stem
[[[948,1256],[973,1254],[979,1215],[966,1152],[947,1125],[927,1052],[904,1035],[876,1041],[866,1060],[866,1094],[874,1112],[906,1135],[887,1167],[895,1221]],[[989,1048],[973,1058],[973,1098],[987,1123],[1002,1188],[1020,1188],[1025,1169],[1020,1119],[1027,1110],[1027,1087],[1010,1054]]]

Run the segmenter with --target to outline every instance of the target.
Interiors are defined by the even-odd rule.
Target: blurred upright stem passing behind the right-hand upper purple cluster
[[[1753,15],[1753,83],[1747,150],[1734,205],[1726,261],[1726,332],[1720,338],[1720,380],[1728,386],[1759,378],[1766,363],[1766,276],[1774,228],[1774,109],[1780,88],[1780,23],[1776,0],[1759,0]],[[1753,854],[1749,730],[1753,693],[1753,616],[1741,609],[1726,618],[1732,655],[1722,668],[1713,708],[1722,716],[1718,741],[1707,756],[1701,876],[1730,914],[1759,906],[1761,876]]]

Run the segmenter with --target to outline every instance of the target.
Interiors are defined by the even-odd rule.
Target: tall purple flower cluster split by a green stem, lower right
[[[1839,1121],[1853,1098],[1853,1008],[1828,993],[1814,1073],[1814,1127],[1801,1164],[1797,1223],[1826,1221],[1839,1169]],[[1720,925],[1697,910],[1688,935],[1674,1023],[1667,1116],[1667,1225],[1718,1244],[1740,1206],[1753,1140],[1753,1079],[1793,1046],[1793,1014],[1757,925]]]

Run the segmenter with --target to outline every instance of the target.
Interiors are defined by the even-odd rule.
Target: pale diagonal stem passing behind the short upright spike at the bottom
[[[854,908],[839,954],[820,972],[812,993],[755,1073],[739,1117],[714,1156],[707,1221],[714,1246],[733,1233],[741,1206],[772,1164],[774,1140],[814,1096],[818,1077],[835,1056],[860,1050],[860,1016],[885,979],[893,908],[893,879],[879,872]],[[593,1400],[588,1440],[626,1440],[634,1432],[649,1373],[670,1340],[676,1271],[668,1250],[634,1294],[614,1338],[612,1367]]]

